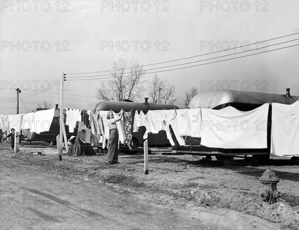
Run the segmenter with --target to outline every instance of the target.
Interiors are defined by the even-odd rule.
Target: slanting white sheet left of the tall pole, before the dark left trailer
[[[46,109],[36,111],[33,114],[33,118],[30,124],[30,132],[39,134],[49,131],[54,117],[54,110],[55,109]]]

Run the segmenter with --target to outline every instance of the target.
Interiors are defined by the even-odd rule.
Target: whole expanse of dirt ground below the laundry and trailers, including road
[[[169,149],[152,153],[145,175],[143,154],[120,153],[120,164],[108,165],[103,153],[63,154],[59,161],[56,147],[24,145],[13,153],[8,143],[0,144],[0,229],[32,229],[33,222],[34,229],[299,229],[298,161],[271,157],[267,165],[257,165],[239,158],[203,160]],[[283,194],[271,206],[258,196],[259,177],[269,167],[280,178],[277,189]],[[64,212],[51,214],[11,209],[11,201],[24,201],[28,191],[37,196],[31,201],[42,196],[69,203]],[[116,217],[112,225],[107,211]]]

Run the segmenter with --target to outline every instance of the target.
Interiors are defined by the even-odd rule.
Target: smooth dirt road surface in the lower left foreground
[[[1,171],[0,229],[208,229],[180,210],[36,170]]]

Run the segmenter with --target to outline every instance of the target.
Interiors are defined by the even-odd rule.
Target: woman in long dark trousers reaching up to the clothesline
[[[107,163],[117,164],[118,162],[118,148],[119,148],[119,134],[116,122],[121,120],[124,114],[124,110],[121,110],[121,114],[118,118],[114,118],[113,111],[107,113],[107,120],[109,121],[108,126],[110,129],[109,140],[108,140],[108,154]]]

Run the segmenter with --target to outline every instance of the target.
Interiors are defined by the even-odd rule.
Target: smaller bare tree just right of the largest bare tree
[[[149,96],[152,103],[173,104],[176,101],[174,93],[175,85],[172,82],[169,84],[168,81],[161,80],[157,75],[152,78],[149,88]]]

